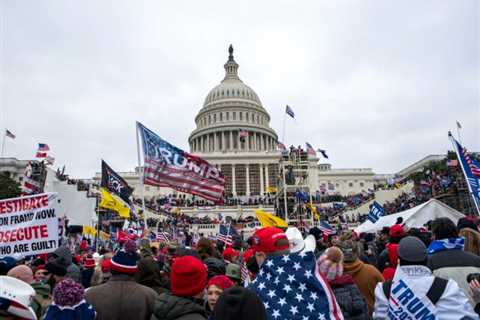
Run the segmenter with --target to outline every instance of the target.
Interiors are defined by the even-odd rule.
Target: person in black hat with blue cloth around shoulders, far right
[[[474,305],[467,276],[480,273],[480,257],[464,251],[465,239],[458,236],[457,228],[449,218],[435,219],[432,233],[434,240],[428,247],[428,267],[437,277],[455,280]]]

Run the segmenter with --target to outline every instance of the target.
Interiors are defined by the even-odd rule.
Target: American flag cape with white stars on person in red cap
[[[265,305],[267,319],[343,319],[335,295],[316,270],[313,252],[269,258],[248,286]]]

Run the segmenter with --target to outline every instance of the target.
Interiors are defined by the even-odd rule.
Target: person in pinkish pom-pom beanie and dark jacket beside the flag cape
[[[343,273],[343,253],[328,248],[317,261],[320,273],[328,280],[345,319],[368,320],[368,306],[349,274]]]

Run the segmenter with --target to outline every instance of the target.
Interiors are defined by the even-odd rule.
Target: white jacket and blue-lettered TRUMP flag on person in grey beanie
[[[425,266],[400,266],[395,272],[387,300],[381,283],[375,288],[373,319],[478,319],[468,299],[453,280],[448,280],[442,296],[435,306],[427,298],[434,276]],[[391,304],[391,305],[390,305]]]

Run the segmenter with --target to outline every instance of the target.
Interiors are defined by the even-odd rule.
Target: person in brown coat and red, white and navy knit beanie
[[[134,281],[140,259],[136,250],[135,242],[127,240],[111,260],[110,280],[87,291],[97,320],[150,320],[157,293]]]

